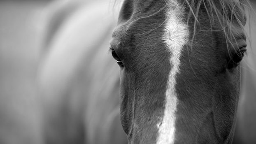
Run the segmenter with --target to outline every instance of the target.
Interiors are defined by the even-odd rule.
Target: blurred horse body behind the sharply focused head
[[[116,20],[106,3],[69,6],[66,3],[54,12],[42,49],[38,77],[44,138],[47,144],[125,144],[119,118],[119,67],[107,54]],[[247,98],[253,98],[246,88],[242,88],[240,109],[250,101]],[[243,110],[238,112],[241,127],[249,118],[241,116]],[[253,137],[244,139],[239,130],[247,129],[238,128],[235,141],[255,142]]]

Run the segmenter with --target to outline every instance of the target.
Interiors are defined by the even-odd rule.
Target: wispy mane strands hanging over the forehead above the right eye
[[[244,25],[247,21],[247,10],[252,10],[249,0],[184,0],[184,5],[190,9],[187,24],[191,21],[194,23],[191,44],[193,45],[197,28],[200,28],[198,21],[200,9],[205,9],[211,24],[210,30],[223,31],[228,50],[230,49],[229,44],[233,47],[232,41],[235,40],[236,43],[234,23],[238,24],[244,30]],[[221,28],[212,29],[212,26],[216,22],[220,24]]]

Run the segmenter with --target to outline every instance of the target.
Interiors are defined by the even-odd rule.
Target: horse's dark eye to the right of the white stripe
[[[244,53],[246,52],[246,48],[242,48],[233,54],[232,58],[228,62],[228,69],[232,69],[241,63],[241,60],[244,57]]]

